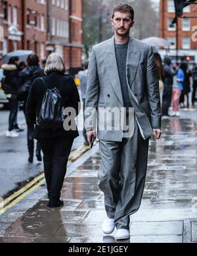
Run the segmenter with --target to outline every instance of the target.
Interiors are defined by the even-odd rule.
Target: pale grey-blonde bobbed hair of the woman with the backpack
[[[51,72],[66,72],[64,59],[58,53],[51,53],[47,58],[45,74],[49,74]]]

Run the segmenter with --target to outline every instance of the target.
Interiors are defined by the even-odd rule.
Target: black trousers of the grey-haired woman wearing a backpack
[[[50,201],[60,199],[73,141],[74,138],[51,138],[40,141]]]

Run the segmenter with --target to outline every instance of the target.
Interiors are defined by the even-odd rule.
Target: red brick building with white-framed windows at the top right
[[[179,59],[184,56],[190,56],[191,62],[197,62],[197,38],[194,39],[196,29],[196,19],[189,16],[197,17],[197,5],[188,5],[185,7],[183,16],[188,18],[178,18],[178,35],[176,38],[176,25],[171,26],[173,18],[175,18],[175,5],[173,0],[160,1],[160,37],[167,39],[171,43],[169,55],[175,57],[178,43]],[[165,54],[165,51],[161,51]]]

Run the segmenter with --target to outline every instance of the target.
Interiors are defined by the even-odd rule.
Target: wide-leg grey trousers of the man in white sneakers
[[[129,229],[129,215],[141,205],[148,161],[148,142],[143,140],[135,120],[134,136],[122,142],[100,140],[99,188],[109,218],[116,228]]]

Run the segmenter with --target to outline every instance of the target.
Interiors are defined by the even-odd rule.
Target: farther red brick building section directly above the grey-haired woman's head
[[[81,66],[82,1],[48,0],[47,52],[64,56],[66,69]]]

